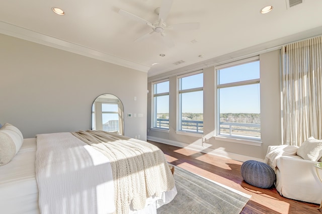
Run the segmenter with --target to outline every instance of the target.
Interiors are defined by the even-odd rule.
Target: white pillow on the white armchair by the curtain
[[[319,160],[322,156],[322,141],[309,137],[298,148],[297,155],[305,160]]]

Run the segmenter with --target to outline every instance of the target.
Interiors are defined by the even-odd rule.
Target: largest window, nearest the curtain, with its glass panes
[[[216,71],[217,136],[260,140],[259,58],[222,66]]]

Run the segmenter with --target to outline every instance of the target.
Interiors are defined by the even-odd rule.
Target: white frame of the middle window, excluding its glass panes
[[[196,88],[188,88],[188,89],[182,89],[180,90],[180,79],[184,78],[184,77],[188,77],[188,76],[193,76],[196,74],[200,74],[200,73],[204,73],[203,69],[201,70],[197,70],[197,71],[193,71],[193,72],[189,72],[189,73],[185,73],[182,75],[178,75],[177,76],[177,113],[178,113],[178,117],[177,117],[177,134],[184,134],[184,135],[190,135],[190,136],[196,136],[196,137],[200,137],[200,135],[203,135],[203,130],[202,132],[197,132],[197,131],[189,131],[189,130],[182,130],[182,108],[181,108],[181,100],[180,100],[180,94],[183,93],[189,93],[189,92],[197,92],[197,91],[202,91],[203,92],[203,88],[204,88],[204,81],[202,82],[202,87],[196,87]],[[204,102],[204,99],[203,99]],[[203,103],[204,105],[204,103]],[[203,114],[203,110],[202,110],[202,114]]]

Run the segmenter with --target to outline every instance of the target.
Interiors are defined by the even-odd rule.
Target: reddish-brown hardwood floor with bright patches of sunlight
[[[263,189],[246,183],[240,174],[243,162],[153,141],[148,142],[159,147],[169,163],[252,195],[241,213],[322,212],[317,209],[318,204],[288,199],[281,196],[276,188]]]

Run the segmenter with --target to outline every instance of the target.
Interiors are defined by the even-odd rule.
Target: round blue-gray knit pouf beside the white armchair
[[[260,188],[273,186],[276,179],[274,170],[268,164],[255,160],[245,161],[240,173],[247,183]]]

